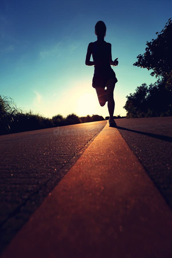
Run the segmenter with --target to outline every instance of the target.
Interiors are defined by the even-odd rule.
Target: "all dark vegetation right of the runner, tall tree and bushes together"
[[[133,65],[151,70],[157,78],[154,84],[143,83],[126,96],[126,118],[172,116],[172,22],[167,21],[156,39],[146,42],[146,52],[137,56]]]

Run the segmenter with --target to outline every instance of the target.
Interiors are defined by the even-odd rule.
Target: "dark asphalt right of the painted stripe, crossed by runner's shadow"
[[[172,207],[172,117],[117,119],[117,128]]]

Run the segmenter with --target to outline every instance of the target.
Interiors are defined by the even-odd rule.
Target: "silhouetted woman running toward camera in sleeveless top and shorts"
[[[103,21],[98,21],[95,25],[95,35],[97,41],[91,42],[88,45],[85,64],[94,65],[94,75],[92,87],[97,92],[97,97],[100,105],[103,107],[107,101],[107,107],[109,111],[109,126],[116,127],[116,122],[113,119],[114,116],[114,88],[115,83],[118,81],[114,70],[111,65],[118,65],[118,58],[112,61],[111,44],[105,42],[106,26]],[[93,61],[90,61],[91,54]],[[107,88],[105,90],[105,87]]]

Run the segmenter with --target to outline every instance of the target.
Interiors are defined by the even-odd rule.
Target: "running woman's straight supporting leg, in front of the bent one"
[[[114,116],[114,108],[115,108],[115,101],[114,101],[114,88],[115,88],[115,80],[114,79],[109,79],[106,83],[106,97],[107,97],[107,107],[109,111],[109,120],[114,121],[113,116]]]

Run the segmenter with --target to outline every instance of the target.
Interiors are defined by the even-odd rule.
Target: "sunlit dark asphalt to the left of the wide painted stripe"
[[[0,136],[0,250],[106,123],[91,122]]]

